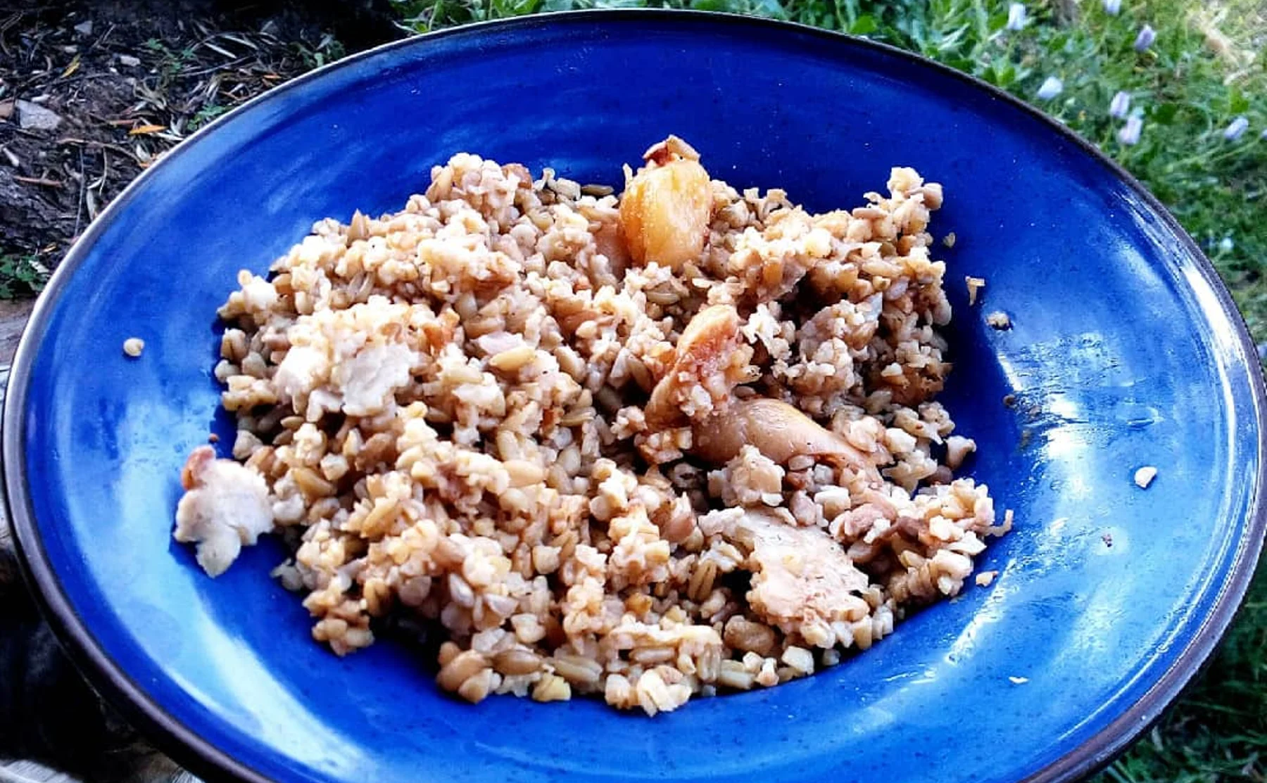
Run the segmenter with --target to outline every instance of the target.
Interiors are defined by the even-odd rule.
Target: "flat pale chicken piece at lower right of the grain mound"
[[[748,511],[735,536],[753,571],[749,604],[784,633],[805,633],[810,644],[831,646],[830,623],[865,613],[865,603],[853,590],[867,589],[867,574],[822,530],[793,527],[773,513]],[[824,636],[811,639],[811,628]]]

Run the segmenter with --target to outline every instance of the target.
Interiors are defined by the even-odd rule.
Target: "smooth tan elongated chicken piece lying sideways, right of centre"
[[[777,399],[735,402],[717,416],[696,422],[692,435],[692,454],[716,465],[725,465],[740,449],[751,445],[780,465],[793,456],[808,455],[874,471],[849,441]]]

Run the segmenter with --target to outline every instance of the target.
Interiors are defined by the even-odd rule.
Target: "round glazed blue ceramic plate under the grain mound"
[[[215,307],[314,219],[399,209],[475,151],[582,181],[668,133],[739,186],[854,205],[892,165],[945,185],[944,399],[1016,531],[988,589],[872,651],[655,720],[441,697],[390,644],[337,659],[269,578],[171,542],[208,430]],[[964,275],[988,280],[969,308]],[[990,329],[1005,310],[1015,328]],[[120,345],[146,341],[139,361]],[[1012,394],[1016,403],[1005,407]],[[29,575],[95,682],[185,763],[248,780],[1067,780],[1209,656],[1263,532],[1257,356],[1209,262],[1123,171],[959,73],[749,19],[582,13],[450,30],[299,79],[146,172],[70,253],[22,342],[5,489]],[[1140,465],[1157,480],[1142,490]]]

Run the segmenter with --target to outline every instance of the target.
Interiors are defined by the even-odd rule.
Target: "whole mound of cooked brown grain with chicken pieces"
[[[810,214],[670,137],[625,189],[454,156],[403,212],[238,274],[175,536],[275,571],[340,654],[388,617],[441,688],[650,715],[865,650],[957,594],[996,525],[934,400],[941,188]]]

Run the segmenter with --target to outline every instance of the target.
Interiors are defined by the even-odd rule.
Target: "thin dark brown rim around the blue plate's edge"
[[[531,16],[517,16],[512,19],[499,19],[483,22],[456,28],[449,28],[424,35],[416,35],[403,41],[386,43],[351,57],[340,60],[314,71],[304,73],[285,85],[248,100],[237,109],[227,113],[200,129],[193,137],[179,144],[160,161],[156,167],[161,167],[167,160],[186,152],[199,143],[201,138],[214,132],[223,123],[232,122],[238,114],[247,111],[257,104],[277,98],[280,94],[293,90],[308,81],[321,79],[323,75],[343,68],[352,62],[366,57],[389,52],[397,48],[427,46],[431,41],[447,38],[451,35],[471,35],[479,32],[493,33],[500,29],[531,29],[554,24],[556,22],[618,22],[618,20],[672,20],[675,23],[712,23],[740,25],[769,30],[770,33],[796,33],[799,35],[815,35],[834,41],[846,51],[850,47],[865,48],[883,52],[887,56],[907,60],[919,63],[921,67],[938,72],[943,76],[959,80],[978,90],[983,90],[995,98],[1041,122],[1053,133],[1059,134],[1066,141],[1076,144],[1086,155],[1091,156],[1124,181],[1161,219],[1169,232],[1180,239],[1183,250],[1197,262],[1197,270],[1202,280],[1209,284],[1226,315],[1237,324],[1238,337],[1245,356],[1258,355],[1249,332],[1244,326],[1240,312],[1237,309],[1232,295],[1223,285],[1219,274],[1205,257],[1205,253],[1196,246],[1187,232],[1178,224],[1175,217],[1161,204],[1134,176],[1126,170],[1105,157],[1090,142],[1069,130],[1066,125],[1053,120],[1040,110],[1012,98],[1007,92],[981,81],[973,76],[940,65],[911,52],[858,38],[831,30],[822,30],[803,24],[791,22],[775,22],[737,14],[725,14],[717,11],[689,11],[666,9],[621,9],[621,10],[584,10],[563,11],[554,14],[538,14]],[[79,242],[70,250],[66,258],[58,266],[48,283],[44,294],[35,304],[30,321],[23,333],[14,357],[13,370],[9,376],[8,400],[4,407],[3,418],[3,462],[4,462],[4,502],[9,512],[9,518],[15,532],[19,563],[32,593],[39,602],[44,617],[52,626],[62,645],[70,652],[75,664],[87,675],[109,701],[146,736],[171,755],[174,759],[186,765],[195,774],[214,780],[246,780],[250,783],[267,783],[269,778],[260,772],[247,767],[242,761],[229,756],[226,751],[215,748],[209,741],[198,736],[188,726],[172,717],[158,702],[138,685],[109,655],[100,647],[92,632],[84,625],[75,612],[75,607],[62,590],[61,582],[48,560],[43,541],[35,525],[30,497],[27,492],[27,462],[23,455],[24,441],[24,408],[27,402],[27,386],[29,385],[32,366],[41,342],[44,337],[48,318],[53,310],[53,304],[75,270],[82,264],[87,248],[96,237],[114,219],[114,217],[136,196],[138,188],[142,188],[151,176],[155,167],[144,171],[110,204],[106,210],[87,228]],[[1252,397],[1254,411],[1261,413],[1267,409],[1267,393],[1263,388],[1262,374],[1251,372]],[[1259,431],[1258,454],[1267,454],[1267,433]],[[1135,704],[1096,732],[1090,740],[1068,751],[1059,759],[1049,763],[1043,769],[1025,778],[1021,783],[1064,783],[1077,780],[1106,767],[1126,746],[1142,735],[1157,718],[1162,711],[1178,697],[1180,692],[1191,682],[1196,673],[1207,663],[1207,659],[1216,649],[1232,623],[1240,602],[1244,599],[1253,578],[1254,566],[1259,550],[1263,545],[1263,533],[1267,531],[1267,504],[1264,504],[1262,488],[1263,479],[1267,478],[1267,466],[1259,460],[1259,474],[1256,478],[1254,495],[1248,509],[1248,526],[1237,546],[1237,552],[1232,563],[1232,571],[1224,583],[1221,592],[1215,598],[1215,606],[1196,633],[1190,639],[1178,659],[1167,669],[1157,683]]]

